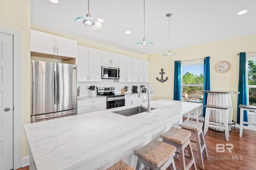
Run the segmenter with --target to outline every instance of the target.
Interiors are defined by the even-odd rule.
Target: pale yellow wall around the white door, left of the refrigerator
[[[22,33],[21,114],[24,125],[30,123],[30,76],[28,76],[30,75],[30,0],[0,0],[0,25],[21,30]],[[22,157],[28,155],[28,144],[22,130]]]

